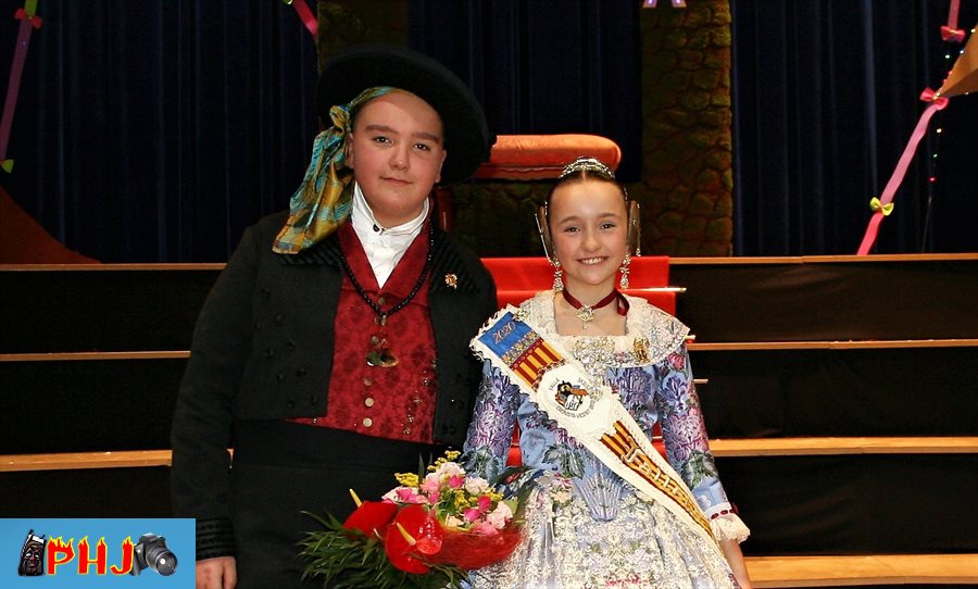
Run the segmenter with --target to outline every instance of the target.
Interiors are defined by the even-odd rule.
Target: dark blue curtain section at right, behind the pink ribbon
[[[940,88],[963,48],[941,39],[948,8],[731,0],[737,255],[856,252],[921,90]],[[962,2],[958,27],[976,23],[978,4]],[[978,98],[952,98],[929,128],[876,253],[978,251]]]

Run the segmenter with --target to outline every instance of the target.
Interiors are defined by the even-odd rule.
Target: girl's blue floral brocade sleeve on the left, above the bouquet
[[[484,362],[482,381],[463,449],[463,462],[469,472],[492,480],[505,468],[518,402],[516,386],[499,368]]]

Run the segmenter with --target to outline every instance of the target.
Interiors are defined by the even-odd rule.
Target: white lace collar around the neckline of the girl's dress
[[[686,341],[689,327],[682,322],[645,299],[628,294],[625,294],[625,298],[628,300],[629,309],[624,336],[561,336],[556,330],[552,290],[537,292],[532,298],[523,301],[519,309],[540,328],[542,331],[540,335],[560,339],[565,343],[565,349],[574,349],[580,342],[610,342],[614,349],[611,365],[615,367],[655,364],[678,350]],[[644,354],[637,354],[637,349],[643,349]]]

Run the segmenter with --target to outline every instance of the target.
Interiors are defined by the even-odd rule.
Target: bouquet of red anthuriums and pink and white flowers
[[[419,474],[394,475],[380,501],[360,501],[342,524],[311,515],[324,530],[300,543],[302,577],[324,587],[461,588],[468,571],[506,559],[521,540],[518,499],[466,475],[447,452]],[[509,473],[506,473],[509,474]]]

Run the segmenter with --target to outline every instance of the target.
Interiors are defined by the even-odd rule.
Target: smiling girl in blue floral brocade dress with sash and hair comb
[[[497,476],[518,423],[526,467],[512,483],[526,492],[525,539],[473,573],[477,589],[751,587],[750,532],[710,452],[689,329],[616,288],[628,287],[637,212],[603,163],[569,164],[539,220],[553,290],[473,340],[484,376],[465,461]]]

